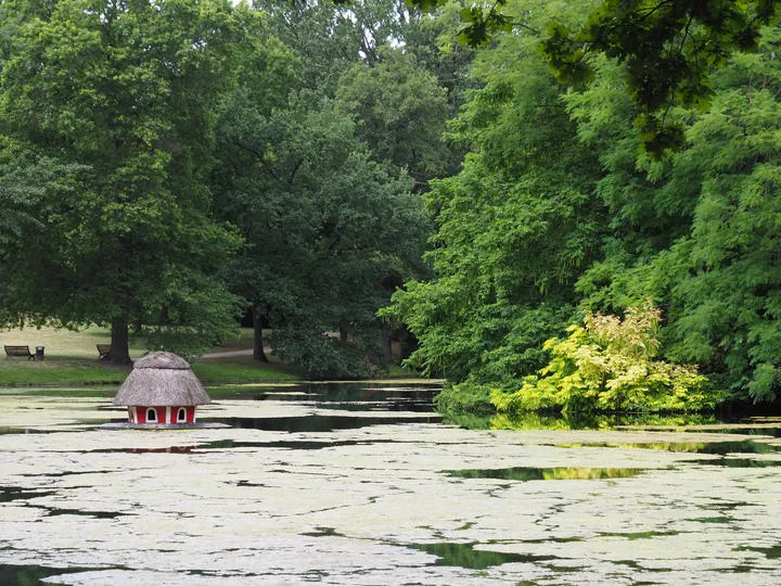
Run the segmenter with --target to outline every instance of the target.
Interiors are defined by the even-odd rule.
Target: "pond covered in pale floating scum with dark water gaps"
[[[470,430],[437,390],[212,387],[228,428],[139,431],[116,388],[0,388],[0,585],[781,584],[780,421]]]

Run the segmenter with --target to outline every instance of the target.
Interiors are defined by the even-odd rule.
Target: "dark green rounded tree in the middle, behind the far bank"
[[[370,161],[351,118],[308,100],[266,111],[240,87],[226,101],[219,204],[246,240],[231,280],[256,339],[268,323],[274,352],[311,375],[357,377],[385,359],[374,314],[388,280],[415,268],[427,222],[409,178]]]

